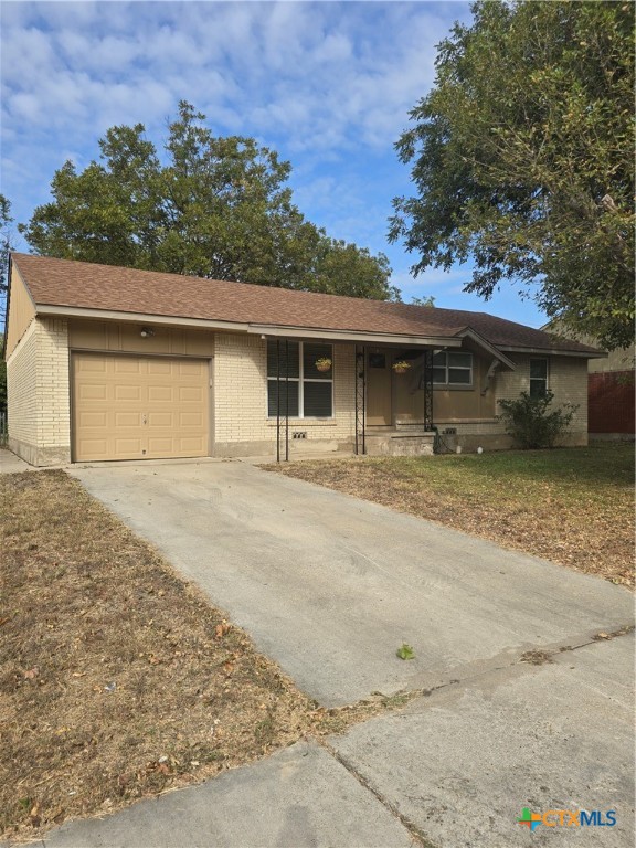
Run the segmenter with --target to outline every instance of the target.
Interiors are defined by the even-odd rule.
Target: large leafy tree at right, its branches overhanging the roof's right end
[[[537,287],[565,327],[634,339],[634,6],[477,2],[442,42],[396,144],[416,197],[390,240],[413,271],[473,259],[465,290]]]

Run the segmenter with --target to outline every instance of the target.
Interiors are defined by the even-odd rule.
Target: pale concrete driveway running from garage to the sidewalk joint
[[[326,707],[465,680],[633,618],[624,589],[246,463],[72,474]],[[415,659],[398,659],[402,643]]]

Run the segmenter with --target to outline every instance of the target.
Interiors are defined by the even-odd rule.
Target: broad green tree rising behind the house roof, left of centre
[[[288,162],[253,138],[215,137],[186,103],[165,163],[142,124],[99,140],[100,161],[67,161],[53,200],[20,225],[41,254],[266,286],[396,297],[383,254],[329,239],[286,186]]]

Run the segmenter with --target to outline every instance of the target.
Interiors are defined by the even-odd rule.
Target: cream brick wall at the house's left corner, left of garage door
[[[9,447],[32,465],[71,459],[66,321],[36,318],[7,360]]]

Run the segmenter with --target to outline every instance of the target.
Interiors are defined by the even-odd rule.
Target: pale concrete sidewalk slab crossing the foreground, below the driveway
[[[45,848],[633,848],[633,636],[515,664],[324,746],[70,823]],[[614,827],[518,824],[615,810]],[[605,816],[606,818],[606,816]],[[558,820],[549,818],[549,820]]]

